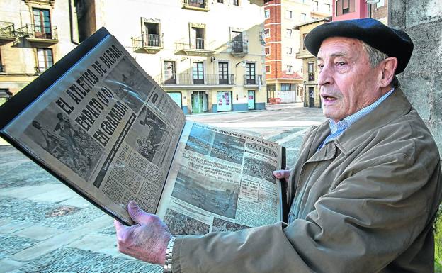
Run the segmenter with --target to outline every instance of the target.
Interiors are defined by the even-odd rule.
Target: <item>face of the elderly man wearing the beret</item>
[[[353,38],[327,38],[317,55],[318,84],[324,116],[341,121],[382,96],[382,75],[372,68],[362,42]]]

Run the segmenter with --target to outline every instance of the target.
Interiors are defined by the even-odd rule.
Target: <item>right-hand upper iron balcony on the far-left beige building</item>
[[[26,37],[30,43],[58,43],[57,27],[45,28],[42,26],[29,25],[16,30],[19,37]]]

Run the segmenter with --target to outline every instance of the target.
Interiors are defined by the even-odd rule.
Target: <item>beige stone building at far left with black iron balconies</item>
[[[75,48],[73,2],[0,1],[0,104]]]

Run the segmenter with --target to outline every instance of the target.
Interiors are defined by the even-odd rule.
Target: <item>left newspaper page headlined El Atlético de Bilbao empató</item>
[[[132,223],[128,201],[156,211],[185,122],[179,106],[109,35],[5,131]]]

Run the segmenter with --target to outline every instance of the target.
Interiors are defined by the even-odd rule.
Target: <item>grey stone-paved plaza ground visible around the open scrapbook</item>
[[[324,121],[300,104],[188,116],[287,148],[293,165],[306,128]],[[113,219],[0,140],[1,272],[162,272],[116,249]]]

